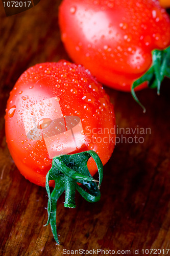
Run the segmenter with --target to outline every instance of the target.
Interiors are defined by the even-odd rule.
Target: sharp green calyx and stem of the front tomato
[[[99,184],[90,175],[87,168],[87,161],[92,157],[98,167],[99,172]],[[100,200],[100,185],[103,179],[103,164],[98,154],[94,151],[85,151],[74,155],[63,155],[54,157],[52,161],[52,168],[46,175],[46,191],[48,194],[48,220],[45,224],[50,223],[53,232],[54,239],[59,244],[56,228],[56,207],[57,200],[61,194],[65,191],[65,207],[75,208],[75,193],[76,189],[88,202],[97,202]],[[55,187],[50,192],[49,181],[55,180]],[[88,188],[88,191],[78,185],[81,183]]]

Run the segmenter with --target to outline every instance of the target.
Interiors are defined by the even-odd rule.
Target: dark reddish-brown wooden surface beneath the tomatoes
[[[51,256],[64,255],[63,249],[110,249],[131,250],[133,255],[133,249],[139,249],[138,254],[143,255],[141,249],[170,248],[168,79],[163,81],[159,97],[154,90],[138,92],[147,108],[145,114],[129,93],[106,88],[118,127],[150,128],[151,134],[135,134],[144,138],[143,143],[126,143],[125,139],[117,143],[104,167],[98,203],[88,203],[77,195],[77,208],[68,209],[61,197],[57,210],[59,246],[50,226],[43,227],[47,220],[45,188],[22,177],[10,157],[4,115],[17,78],[35,63],[69,59],[60,40],[59,3],[41,0],[34,8],[10,17],[0,4],[0,254]],[[133,136],[132,132],[124,135],[126,139]],[[82,255],[90,254],[86,251]]]

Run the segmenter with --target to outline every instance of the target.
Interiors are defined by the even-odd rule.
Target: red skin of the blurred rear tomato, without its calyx
[[[151,51],[170,43],[170,19],[158,0],[63,0],[59,25],[71,59],[122,91],[149,69]]]

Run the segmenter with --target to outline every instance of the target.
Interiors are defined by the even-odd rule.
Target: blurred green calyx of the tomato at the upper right
[[[132,84],[132,96],[142,107],[143,112],[146,110],[144,106],[139,102],[134,89],[141,83],[148,81],[148,87],[157,88],[157,94],[159,95],[161,82],[165,76],[170,78],[170,46],[164,50],[153,50],[151,68],[146,73],[144,73],[143,76],[135,80]]]

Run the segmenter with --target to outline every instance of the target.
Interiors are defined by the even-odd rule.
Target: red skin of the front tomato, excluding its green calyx
[[[59,112],[62,113],[60,116]],[[67,146],[73,143],[71,135],[64,141],[66,135],[63,132],[58,135],[60,141],[63,140],[62,144],[57,139],[47,142],[48,137],[45,138],[43,133],[46,130],[42,127],[40,129],[39,120],[49,119],[49,116],[55,115],[61,120],[66,120],[66,117],[70,116],[79,117],[81,120],[82,126],[79,123],[80,127],[77,128],[79,130],[71,130],[67,126],[69,134],[70,131],[76,131],[74,136],[78,146],[70,147],[70,152],[66,154],[93,150],[105,164],[114,148],[113,106],[101,84],[88,70],[67,61],[40,63],[29,68],[19,77],[10,92],[5,131],[9,151],[20,173],[41,186],[45,186],[45,176],[52,166],[52,157],[49,154],[63,154],[64,150],[67,151]],[[32,116],[37,130],[31,127]],[[50,127],[51,122],[45,125]],[[83,130],[79,134],[81,127]],[[48,127],[45,126],[45,129]],[[35,136],[41,137],[43,133],[41,139],[31,136],[34,130]],[[54,142],[55,146],[52,145]],[[52,149],[55,152],[52,152]],[[91,175],[97,171],[92,159],[88,161],[88,168]]]

